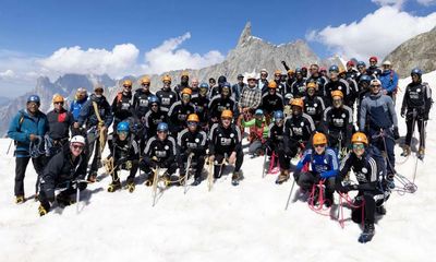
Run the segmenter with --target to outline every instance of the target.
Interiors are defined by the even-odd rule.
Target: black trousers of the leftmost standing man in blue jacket
[[[16,157],[15,158],[15,187],[14,193],[15,196],[24,195],[24,177],[26,174],[26,168],[31,157]],[[34,165],[35,171],[37,174],[36,184],[35,184],[35,193],[38,193],[39,189],[39,178],[43,175],[45,163],[45,156],[39,156],[37,158],[32,158],[32,164]]]

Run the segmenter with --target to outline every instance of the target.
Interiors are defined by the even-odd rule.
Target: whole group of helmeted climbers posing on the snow
[[[239,74],[233,85],[225,75],[201,83],[183,72],[174,86],[171,76],[164,75],[156,93],[144,76],[135,91],[131,80],[122,81],[122,91],[111,104],[102,86],[96,86],[90,96],[78,88],[68,109],[65,98],[55,95],[53,109],[47,115],[39,110],[40,98],[32,95],[8,131],[16,144],[15,201],[25,201],[23,181],[29,159],[38,174],[40,215],[55,201],[73,203],[72,194],[96,182],[104,164],[110,166],[112,178],[108,192],[122,188],[122,169],[129,170],[125,187],[130,192],[135,190],[138,169],[145,174],[146,186],[154,183],[157,169],[165,170],[168,184],[183,184],[192,174],[192,186],[197,186],[206,163],[213,165],[215,179],[221,177],[223,165],[234,165],[235,186],[243,179],[242,140],[247,134],[252,157],[277,159],[278,184],[291,172],[302,192],[323,183],[326,205],[334,203],[335,191],[358,190],[356,198],[365,205],[353,212],[364,212],[364,234],[372,236],[375,213],[386,213],[383,202],[395,187],[393,147],[400,136],[395,110],[398,75],[391,62],[384,61],[382,68],[377,62],[372,57],[370,67],[349,61],[347,69],[311,64],[292,70],[282,61],[286,72],[276,70],[270,81],[268,72],[261,70],[259,78]],[[411,154],[417,126],[417,156],[423,158],[432,94],[420,69],[413,69],[411,76],[400,114],[408,126],[402,155]],[[102,158],[106,144],[109,155]],[[292,166],[295,157],[300,160]],[[355,184],[348,181],[351,169]]]

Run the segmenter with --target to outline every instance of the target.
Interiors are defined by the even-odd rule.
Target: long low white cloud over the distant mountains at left
[[[104,74],[122,76],[136,66],[140,50],[132,44],[122,44],[112,50],[89,48],[83,50],[78,46],[63,47],[50,57],[37,61],[43,71],[52,73]]]

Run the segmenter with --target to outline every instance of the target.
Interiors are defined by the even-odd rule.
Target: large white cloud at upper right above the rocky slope
[[[407,39],[431,31],[436,25],[436,13],[413,16],[398,8],[385,5],[361,21],[327,26],[306,35],[341,56],[366,60],[371,56],[385,57]]]

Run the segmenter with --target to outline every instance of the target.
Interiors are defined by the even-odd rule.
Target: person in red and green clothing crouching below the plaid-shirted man
[[[254,118],[247,122],[242,119],[242,127],[250,128],[249,141],[250,148],[249,153],[253,156],[259,156],[265,154],[265,142],[268,138],[268,126],[266,124],[264,111],[256,109]]]

